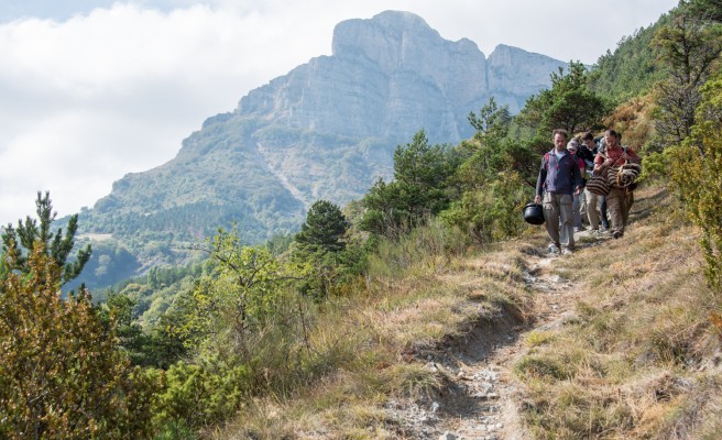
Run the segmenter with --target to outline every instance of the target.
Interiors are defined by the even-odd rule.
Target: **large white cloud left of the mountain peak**
[[[280,32],[200,6],[0,26],[0,118],[10,122],[0,163],[11,164],[0,176],[2,223],[34,212],[36,190],[70,213],[125,173],[172,158],[206,117],[289,68],[283,56],[258,56]]]

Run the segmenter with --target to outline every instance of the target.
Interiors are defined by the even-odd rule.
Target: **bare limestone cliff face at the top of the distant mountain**
[[[565,65],[508,46],[486,59],[470,40],[444,40],[422,18],[386,11],[339,23],[330,57],[251,91],[237,112],[349,136],[424,129],[433,141],[459,142],[472,134],[467,116],[490,96],[515,113]]]

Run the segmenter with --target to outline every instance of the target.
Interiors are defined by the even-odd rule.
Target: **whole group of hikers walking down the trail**
[[[591,132],[580,138],[569,141],[566,130],[555,130],[554,148],[542,158],[537,177],[534,201],[543,205],[549,253],[555,255],[573,253],[575,232],[583,230],[584,221],[590,235],[622,238],[634,202],[639,156],[622,146],[614,130],[606,130],[598,140]],[[623,173],[631,178],[625,179],[628,176]],[[603,190],[592,185],[600,179]]]

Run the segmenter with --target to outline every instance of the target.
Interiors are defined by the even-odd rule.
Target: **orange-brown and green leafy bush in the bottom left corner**
[[[0,279],[0,437],[147,437],[156,382],[116,350],[114,319],[103,326],[86,290],[61,297],[67,272],[41,239],[22,263],[19,254],[9,241]]]

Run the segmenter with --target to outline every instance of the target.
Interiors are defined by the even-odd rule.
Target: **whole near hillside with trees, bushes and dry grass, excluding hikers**
[[[221,228],[188,243],[196,264],[108,292],[63,298],[90,250],[39,195],[37,220],[2,235],[0,437],[438,438],[494,413],[491,385],[464,384],[496,378],[464,369],[516,340],[518,425],[484,416],[488,432],[718,438],[721,19],[718,0],[685,3],[591,72],[553,73],[518,114],[490,97],[469,139],[416,131],[392,175],[344,206],[314,200],[298,232],[251,244]],[[556,128],[617,129],[644,172],[628,233],[548,257],[521,212]],[[542,275],[586,295],[519,339],[537,305],[558,308]]]

